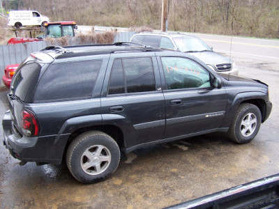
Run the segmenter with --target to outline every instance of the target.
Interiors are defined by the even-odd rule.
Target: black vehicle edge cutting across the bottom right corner
[[[279,208],[279,173],[167,209],[178,208]]]

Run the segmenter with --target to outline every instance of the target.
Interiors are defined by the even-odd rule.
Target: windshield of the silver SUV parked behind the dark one
[[[212,49],[199,38],[183,36],[173,38],[173,40],[181,52],[212,51]]]

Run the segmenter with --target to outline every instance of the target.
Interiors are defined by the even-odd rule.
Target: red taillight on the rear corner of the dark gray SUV
[[[22,111],[22,131],[27,137],[36,137],[39,133],[39,126],[36,117],[31,111]]]

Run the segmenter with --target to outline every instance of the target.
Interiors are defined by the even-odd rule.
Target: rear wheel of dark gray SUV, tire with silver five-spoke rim
[[[97,183],[110,177],[120,161],[116,141],[100,131],[80,134],[70,144],[66,163],[80,183]]]

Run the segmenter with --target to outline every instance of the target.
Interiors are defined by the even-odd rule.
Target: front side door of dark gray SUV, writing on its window
[[[211,74],[186,56],[158,57],[166,105],[164,139],[211,132],[227,107],[225,88],[211,85]]]

